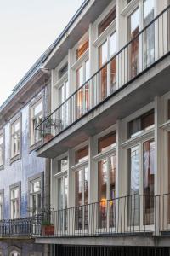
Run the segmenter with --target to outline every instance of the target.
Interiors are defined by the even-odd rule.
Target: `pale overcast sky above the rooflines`
[[[0,0],[0,105],[83,0]]]

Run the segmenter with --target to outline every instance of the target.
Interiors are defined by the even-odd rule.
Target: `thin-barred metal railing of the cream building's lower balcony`
[[[42,219],[50,219],[53,229],[46,233],[38,223],[33,236],[170,236],[170,194],[127,195],[50,212]]]

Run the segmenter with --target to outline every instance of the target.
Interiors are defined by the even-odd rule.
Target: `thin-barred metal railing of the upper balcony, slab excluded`
[[[47,143],[109,96],[115,95],[123,86],[169,54],[169,50],[170,6],[37,126],[42,143]]]

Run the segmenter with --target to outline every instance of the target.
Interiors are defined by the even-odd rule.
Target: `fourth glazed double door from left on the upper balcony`
[[[128,17],[128,77],[133,79],[155,60],[155,24],[139,31],[154,19],[154,0],[144,0]]]

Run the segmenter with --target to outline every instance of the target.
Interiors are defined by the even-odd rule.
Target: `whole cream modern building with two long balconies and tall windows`
[[[169,255],[169,1],[89,0],[43,62],[51,255]]]

